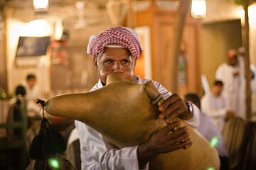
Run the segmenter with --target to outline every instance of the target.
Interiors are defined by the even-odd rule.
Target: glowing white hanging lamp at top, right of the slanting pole
[[[206,0],[192,0],[191,16],[193,18],[206,17]]]

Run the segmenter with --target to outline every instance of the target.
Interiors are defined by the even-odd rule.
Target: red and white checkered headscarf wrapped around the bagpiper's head
[[[139,57],[142,54],[142,42],[139,35],[127,27],[108,28],[98,35],[90,36],[87,54],[97,57],[104,47],[127,47],[132,56]]]

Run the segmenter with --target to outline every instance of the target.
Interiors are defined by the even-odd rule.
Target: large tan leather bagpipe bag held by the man
[[[80,120],[100,132],[119,148],[131,147],[146,141],[152,132],[166,123],[156,118],[151,103],[159,92],[151,81],[136,84],[125,81],[117,73],[109,74],[107,85],[83,94],[66,94],[50,98],[45,110],[50,115]],[[158,154],[150,161],[150,169],[219,169],[218,152],[190,125],[189,138],[193,145],[166,154]]]

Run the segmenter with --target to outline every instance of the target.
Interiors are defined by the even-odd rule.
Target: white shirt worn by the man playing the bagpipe
[[[132,81],[138,84],[144,84],[150,80],[140,79],[139,77],[134,76]],[[164,86],[161,86],[161,84],[156,81],[152,81],[152,83],[159,93],[162,94],[164,99],[171,96],[171,93],[167,91]],[[98,83],[95,84],[90,91],[95,91],[100,88],[102,88],[102,82],[99,79]],[[186,122],[193,127],[198,127],[200,111],[194,105],[193,113],[193,118]],[[85,123],[75,120],[75,127],[78,129],[80,138],[82,169],[139,169],[139,162],[137,159],[138,146],[119,149],[110,143],[104,142],[102,135]],[[147,164],[144,169],[149,169],[149,164]]]

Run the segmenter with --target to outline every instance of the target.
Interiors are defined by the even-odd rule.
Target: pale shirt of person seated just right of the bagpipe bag
[[[220,131],[213,123],[213,120],[208,117],[208,115],[204,113],[200,114],[200,124],[196,130],[198,130],[203,137],[206,137],[206,140],[209,142],[213,140],[213,137],[217,137],[218,142],[215,145],[215,149],[217,149],[220,157],[228,157],[228,150],[225,147],[223,135],[221,135]]]

